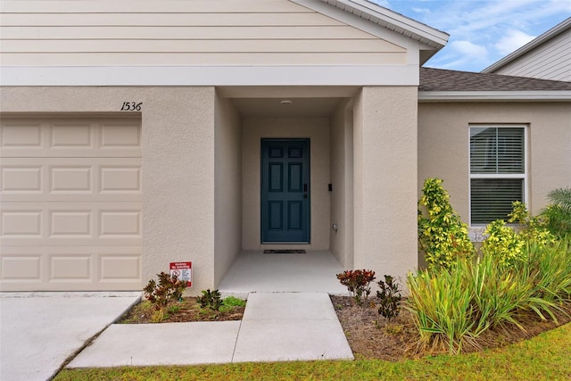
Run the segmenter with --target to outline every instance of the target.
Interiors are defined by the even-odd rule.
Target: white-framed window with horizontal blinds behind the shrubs
[[[470,224],[507,220],[524,190],[525,127],[470,127]]]

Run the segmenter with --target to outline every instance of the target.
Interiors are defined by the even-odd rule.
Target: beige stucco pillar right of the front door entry
[[[418,266],[416,87],[363,87],[354,112],[354,267]]]

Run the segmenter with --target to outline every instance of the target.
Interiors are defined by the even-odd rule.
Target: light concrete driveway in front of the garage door
[[[141,293],[0,293],[0,380],[46,380]]]

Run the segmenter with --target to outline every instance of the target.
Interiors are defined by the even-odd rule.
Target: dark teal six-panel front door
[[[261,140],[261,242],[310,242],[310,141]]]

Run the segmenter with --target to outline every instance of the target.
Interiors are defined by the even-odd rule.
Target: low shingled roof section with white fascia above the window
[[[418,99],[571,101],[571,82],[420,68]]]

